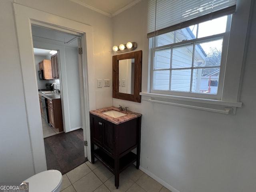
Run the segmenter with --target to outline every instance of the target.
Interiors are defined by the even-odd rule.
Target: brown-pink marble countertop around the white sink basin
[[[103,114],[103,112],[110,111],[110,110],[115,110],[115,111],[124,113],[126,115],[122,116],[122,117],[114,118],[112,116]],[[92,110],[92,111],[90,111],[90,114],[96,115],[96,116],[98,116],[98,117],[100,117],[100,118],[102,118],[104,120],[110,121],[110,122],[112,122],[112,123],[114,123],[116,125],[142,116],[142,114],[140,114],[140,113],[136,113],[136,112],[132,112],[132,111],[121,111],[117,107],[113,107],[113,106],[112,107],[102,108],[102,109]]]

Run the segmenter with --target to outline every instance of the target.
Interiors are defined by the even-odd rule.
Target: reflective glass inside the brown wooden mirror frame
[[[119,92],[134,94],[134,58],[119,60]]]

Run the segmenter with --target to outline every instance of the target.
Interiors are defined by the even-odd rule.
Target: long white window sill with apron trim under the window
[[[142,100],[149,102],[193,108],[222,114],[236,114],[236,108],[242,107],[242,102],[228,102],[222,100],[192,98],[155,93],[140,92]]]

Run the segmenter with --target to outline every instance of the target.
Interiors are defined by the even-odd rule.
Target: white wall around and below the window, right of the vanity
[[[147,92],[148,85],[146,9],[147,1],[142,0],[113,19],[113,44],[135,41],[137,50],[143,50],[143,92]],[[252,192],[256,189],[256,6],[253,10],[241,84],[243,106],[236,115],[146,100],[135,103],[113,99],[114,106],[121,104],[142,113],[141,169],[172,192]]]

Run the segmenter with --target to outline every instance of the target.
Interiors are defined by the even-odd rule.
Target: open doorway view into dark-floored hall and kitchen
[[[51,71],[53,74],[54,58],[58,58],[56,59],[58,61],[58,69],[55,69],[58,72],[56,78],[52,76],[48,80],[42,80],[38,73],[37,84],[38,94],[42,98],[42,105],[40,103],[40,106],[46,105],[47,108],[46,110],[41,110],[41,114],[43,112],[42,117],[44,117],[42,118],[42,131],[47,169],[57,169],[62,174],[65,174],[86,160],[83,150],[84,139],[83,135],[81,135],[83,133],[83,127],[80,107],[80,64],[78,59],[80,56],[78,54],[80,36],[74,36],[73,34],[63,33],[41,26],[32,25],[31,28],[36,69],[39,70],[41,63],[48,64],[48,62],[51,63],[52,61],[52,65],[50,66],[52,66]],[[49,87],[51,90],[59,90],[60,93],[47,94],[46,91],[41,91]],[[49,100],[51,97],[54,99]],[[44,100],[46,100],[46,104]],[[58,104],[60,100],[62,108],[56,109],[56,106],[54,106],[54,113],[49,112],[48,114],[48,111],[52,109],[49,106],[49,102]],[[64,125],[64,132],[62,131],[63,127],[56,126],[56,122],[60,120],[55,118],[55,123],[51,122],[51,114],[55,114],[54,116],[58,116],[58,118],[63,117],[61,118],[61,122]],[[56,136],[56,134],[60,135]]]

